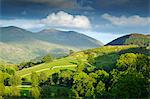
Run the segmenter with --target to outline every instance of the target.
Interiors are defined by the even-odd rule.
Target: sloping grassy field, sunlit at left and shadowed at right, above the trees
[[[111,67],[115,64],[117,58],[126,52],[138,51],[137,46],[103,46],[100,48],[89,49],[85,51],[76,52],[66,58],[61,58],[54,60],[53,62],[39,64],[30,68],[26,68],[17,71],[17,74],[21,77],[30,76],[30,74],[35,71],[37,73],[45,72],[50,75],[55,72],[59,72],[61,69],[74,69],[76,67],[77,59],[85,60],[87,59],[89,53],[94,54],[97,67]],[[145,50],[144,50],[145,51]],[[142,52],[144,52],[142,51]],[[149,50],[148,50],[149,51]],[[138,53],[142,53],[138,52]]]

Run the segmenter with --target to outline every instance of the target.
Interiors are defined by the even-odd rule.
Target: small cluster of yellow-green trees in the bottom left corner
[[[21,78],[18,75],[0,71],[0,97],[20,96],[20,90],[17,87],[20,84]]]

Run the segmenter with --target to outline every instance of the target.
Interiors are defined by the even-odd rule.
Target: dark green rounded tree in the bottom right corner
[[[117,98],[145,98],[148,97],[147,81],[141,73],[127,70],[118,74],[117,80],[112,84],[111,93]]]

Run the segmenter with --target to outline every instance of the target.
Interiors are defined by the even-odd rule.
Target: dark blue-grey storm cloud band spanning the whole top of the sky
[[[60,10],[149,16],[148,8],[149,0],[1,0],[2,18],[42,18]]]

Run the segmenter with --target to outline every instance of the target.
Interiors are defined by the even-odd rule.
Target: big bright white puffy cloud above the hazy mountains
[[[91,28],[91,23],[88,17],[83,15],[73,16],[64,11],[49,14],[45,19],[42,19],[41,22],[49,26],[61,26],[80,29]]]

